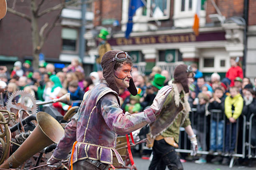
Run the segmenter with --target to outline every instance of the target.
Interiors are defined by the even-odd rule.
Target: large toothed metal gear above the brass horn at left
[[[13,102],[17,96],[19,96],[19,100]],[[28,99],[31,100],[32,105],[28,106],[28,103],[26,103],[26,101],[29,101]],[[37,112],[36,98],[33,97],[30,93],[24,92],[23,90],[18,90],[10,95],[6,102],[6,107],[7,110],[14,112],[16,115],[21,109],[26,110],[29,114],[36,114]]]

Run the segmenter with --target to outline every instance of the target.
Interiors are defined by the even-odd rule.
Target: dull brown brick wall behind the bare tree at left
[[[54,6],[59,1],[46,0],[42,10]],[[12,7],[13,1],[8,1],[8,7]],[[29,1],[17,1],[15,10],[30,15]],[[39,29],[48,22],[49,25],[55,19],[59,11],[46,14],[39,20]],[[0,20],[0,55],[17,56],[22,60],[24,56],[32,56],[31,25],[24,19],[8,13]],[[61,50],[61,26],[55,27],[42,48],[45,57],[59,58]]]

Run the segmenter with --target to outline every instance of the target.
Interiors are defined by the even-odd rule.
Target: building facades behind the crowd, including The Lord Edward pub
[[[57,3],[46,2],[42,9]],[[145,5],[136,10],[133,32],[128,39],[125,30],[129,0],[84,2],[84,36],[80,34],[81,6],[65,8],[42,48],[46,61],[67,64],[72,58],[80,57],[85,70],[92,71],[98,55],[97,34],[101,28],[107,28],[112,48],[128,51],[142,72],[149,73],[154,65],[159,65],[172,75],[179,63],[197,62],[204,75],[218,72],[224,77],[230,57],[240,57],[246,76],[255,77],[256,0],[201,0],[198,36],[192,30],[197,0],[143,0]],[[13,1],[9,0],[8,6],[12,5]],[[29,6],[27,1],[17,1],[15,10],[30,15]],[[51,18],[59,12],[46,14],[39,25],[51,23]],[[1,62],[31,58],[31,25],[27,20],[7,13],[0,20],[0,37]],[[86,40],[83,57],[79,55],[81,37]]]

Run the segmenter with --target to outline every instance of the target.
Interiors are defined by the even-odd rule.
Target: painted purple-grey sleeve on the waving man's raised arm
[[[151,108],[139,113],[130,114],[125,112],[123,114],[116,96],[112,93],[103,96],[98,103],[108,127],[118,135],[131,133],[156,120],[154,111]]]

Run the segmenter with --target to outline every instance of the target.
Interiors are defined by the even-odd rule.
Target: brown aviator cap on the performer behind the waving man
[[[181,83],[186,93],[189,92],[187,76],[190,72],[192,72],[191,66],[187,66],[185,64],[177,65],[174,68],[174,74],[173,74],[174,83],[175,82]]]

